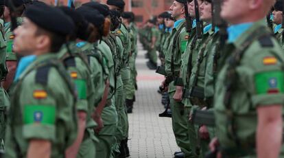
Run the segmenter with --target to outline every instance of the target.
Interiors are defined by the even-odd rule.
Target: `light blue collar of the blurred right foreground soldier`
[[[248,36],[252,36],[251,35],[252,32],[254,32],[260,26],[267,27],[267,24],[265,23],[264,19],[261,19],[260,21],[256,21],[253,23],[246,23],[245,27],[243,26],[243,28],[241,27],[239,28],[243,30],[240,30],[241,34],[238,34],[237,38],[235,38],[235,41],[233,41],[232,43],[234,43],[236,47],[240,47],[241,44],[244,43],[244,41],[246,41]],[[230,36],[230,33],[229,33],[229,36]]]

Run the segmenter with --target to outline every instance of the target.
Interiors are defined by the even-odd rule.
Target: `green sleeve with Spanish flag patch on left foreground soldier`
[[[56,139],[56,96],[41,84],[23,85],[21,90],[23,137]]]

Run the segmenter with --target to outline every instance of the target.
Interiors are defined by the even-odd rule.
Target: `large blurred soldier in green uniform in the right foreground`
[[[283,157],[284,56],[264,20],[274,1],[253,8],[244,2],[222,5],[231,24],[224,49],[230,55],[215,85],[217,137],[210,148],[220,149],[218,157]]]

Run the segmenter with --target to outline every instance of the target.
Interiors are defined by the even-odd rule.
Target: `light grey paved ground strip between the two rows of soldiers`
[[[145,51],[139,45],[137,57],[138,88],[134,113],[128,117],[130,123],[130,154],[132,158],[173,157],[178,150],[171,119],[158,117],[164,111],[161,95],[157,93],[163,76],[147,69]]]

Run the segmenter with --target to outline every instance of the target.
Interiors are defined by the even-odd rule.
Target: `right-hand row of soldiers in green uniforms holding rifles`
[[[284,157],[283,1],[175,0],[169,9],[140,33],[152,64],[155,49],[161,58],[175,157]]]

